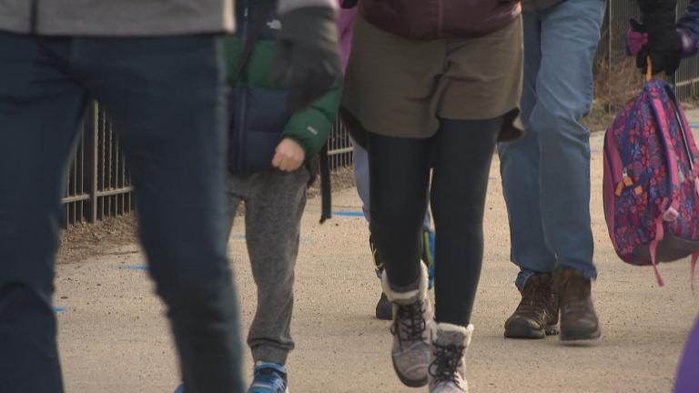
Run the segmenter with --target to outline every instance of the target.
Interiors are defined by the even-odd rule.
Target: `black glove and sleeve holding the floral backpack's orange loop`
[[[633,24],[635,31],[648,34],[648,44],[636,55],[636,66],[645,73],[648,57],[653,74],[672,75],[682,60],[682,37],[675,24],[675,0],[638,0],[643,25]]]

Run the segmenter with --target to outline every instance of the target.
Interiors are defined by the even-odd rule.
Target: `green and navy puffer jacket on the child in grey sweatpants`
[[[238,31],[226,39],[228,80],[232,87],[229,169],[237,175],[271,169],[274,149],[285,137],[303,147],[307,160],[316,156],[328,139],[341,96],[338,84],[307,108],[289,114],[287,88],[273,80],[275,38],[281,27],[274,11],[268,14],[243,75],[238,78],[245,42],[256,28],[253,21],[265,12],[264,8],[256,0],[238,2]]]

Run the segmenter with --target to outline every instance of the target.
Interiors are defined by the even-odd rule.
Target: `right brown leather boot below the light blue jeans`
[[[561,340],[600,337],[600,323],[594,312],[591,279],[582,271],[558,267],[553,271],[553,292],[561,309]]]

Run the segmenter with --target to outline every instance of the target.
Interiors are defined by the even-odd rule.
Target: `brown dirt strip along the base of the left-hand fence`
[[[332,172],[333,192],[354,186],[352,168],[344,167]],[[309,198],[320,196],[320,183],[309,188]],[[244,213],[244,206],[238,208],[238,216]],[[61,247],[56,262],[75,263],[88,257],[105,255],[115,247],[137,242],[137,220],[135,214],[121,217],[108,217],[95,224],[77,223],[61,232]]]

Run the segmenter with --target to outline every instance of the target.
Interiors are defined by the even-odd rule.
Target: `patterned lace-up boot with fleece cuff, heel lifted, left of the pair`
[[[432,319],[430,297],[427,296],[427,269],[422,267],[418,289],[396,292],[390,288],[386,272],[381,284],[393,306],[393,335],[391,360],[396,375],[404,385],[420,388],[427,385],[430,364],[430,334],[427,328]]]

